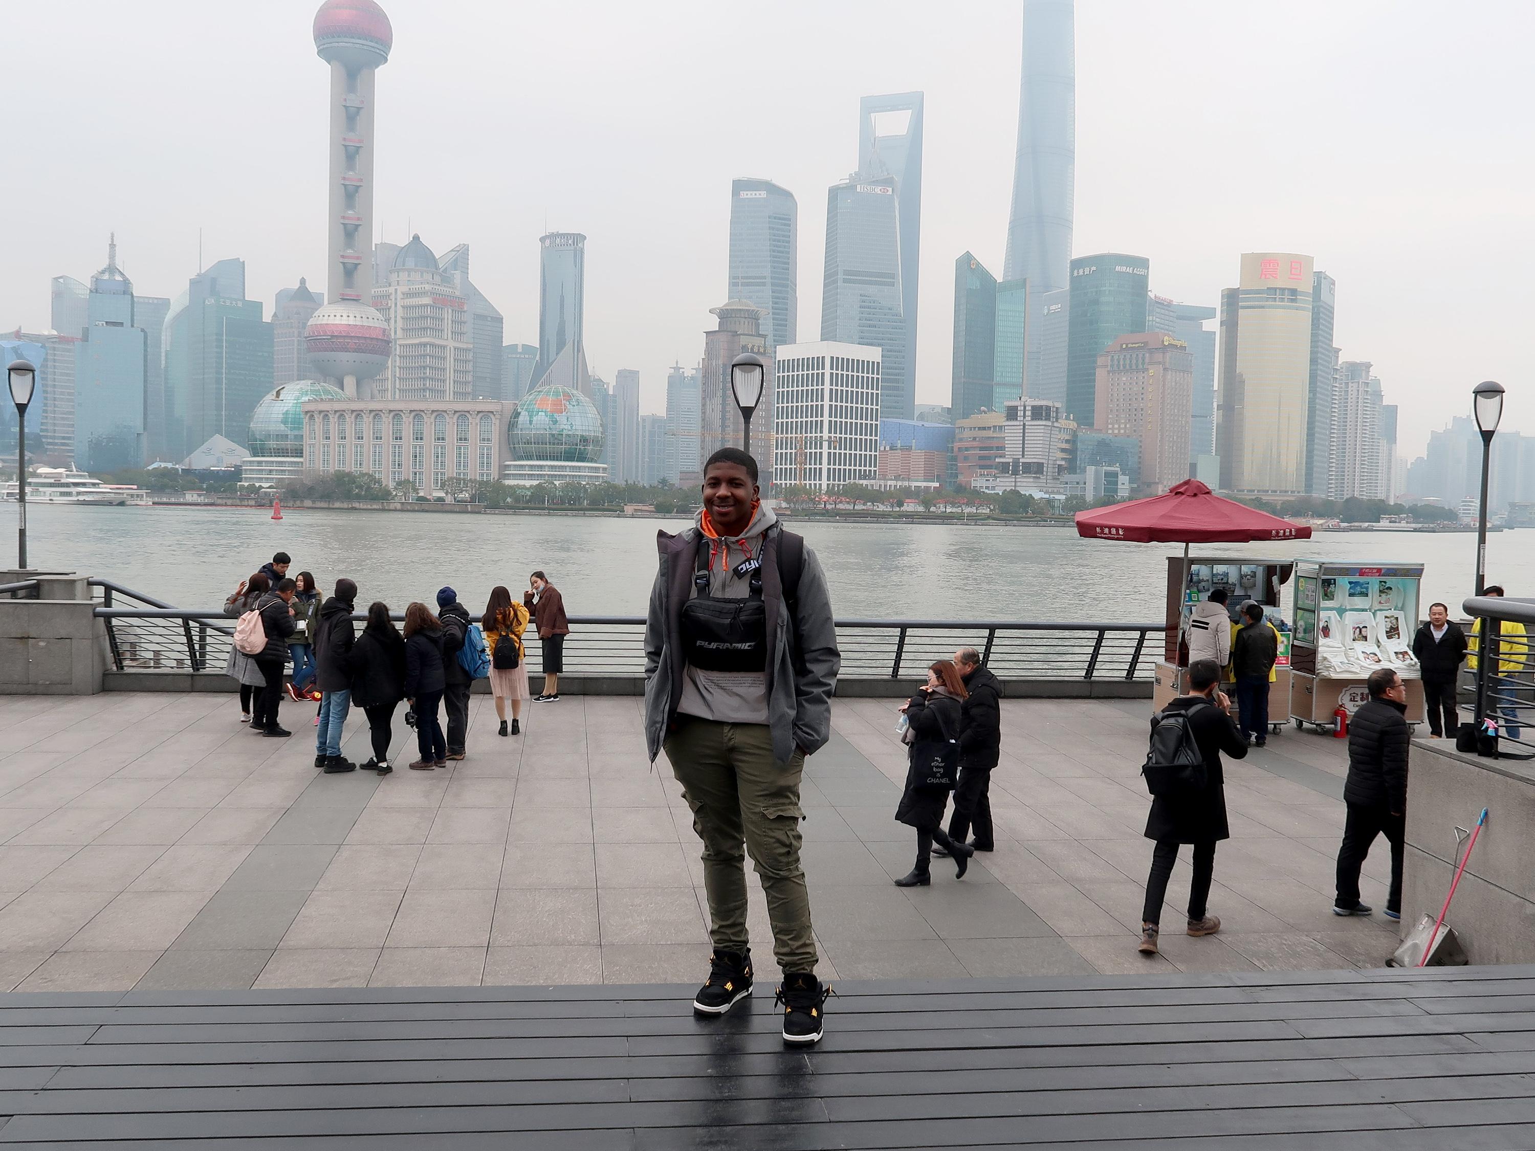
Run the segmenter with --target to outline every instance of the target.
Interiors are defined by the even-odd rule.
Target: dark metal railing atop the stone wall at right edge
[[[1471,657],[1478,732],[1535,752],[1535,600],[1474,595],[1461,605],[1472,618]],[[1486,723],[1486,721],[1490,721]],[[1506,752],[1506,749],[1503,749]]]

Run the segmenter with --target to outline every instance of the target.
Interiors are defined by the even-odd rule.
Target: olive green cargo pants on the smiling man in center
[[[789,971],[815,971],[810,896],[800,867],[800,773],[804,757],[778,763],[768,724],[717,723],[678,715],[663,744],[703,839],[709,939],[744,951],[746,853],[751,853],[772,922],[774,958]],[[744,847],[744,852],[743,852]]]

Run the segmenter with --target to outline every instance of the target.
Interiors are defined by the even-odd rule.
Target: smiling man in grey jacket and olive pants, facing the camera
[[[652,761],[666,750],[703,841],[714,955],[692,1007],[721,1016],[752,991],[749,853],[783,970],[783,1039],[814,1044],[829,988],[815,978],[800,867],[800,775],[804,757],[830,738],[841,668],[826,576],[804,540],[761,503],[757,460],[737,448],[705,463],[695,525],[659,533],[657,545],[645,734]]]

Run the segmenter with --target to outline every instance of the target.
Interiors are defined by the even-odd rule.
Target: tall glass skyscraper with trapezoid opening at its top
[[[858,170],[893,176],[901,236],[901,316],[906,324],[903,419],[916,408],[916,285],[923,252],[923,94],[858,101]],[[824,336],[823,336],[824,338]],[[884,356],[889,368],[890,355]]]

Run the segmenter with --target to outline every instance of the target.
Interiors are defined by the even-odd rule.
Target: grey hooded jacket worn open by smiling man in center
[[[768,726],[772,731],[774,758],[787,763],[795,747],[806,754],[820,750],[832,735],[832,691],[841,668],[832,597],[815,552],[804,549],[804,568],[795,609],[784,609],[783,582],[778,577],[778,537],[781,528],[771,508],[760,508],[746,533],[721,540],[723,563],[709,569],[711,595],[744,595],[748,577],[732,571],[744,557],[741,540],[761,554],[763,606],[768,615]],[[651,589],[649,617],[645,625],[645,737],[651,760],[662,750],[666,729],[677,717],[686,666],[682,648],[682,608],[694,595],[698,537],[692,528],[668,536],[655,534],[660,569]],[[740,585],[740,588],[734,585]]]

